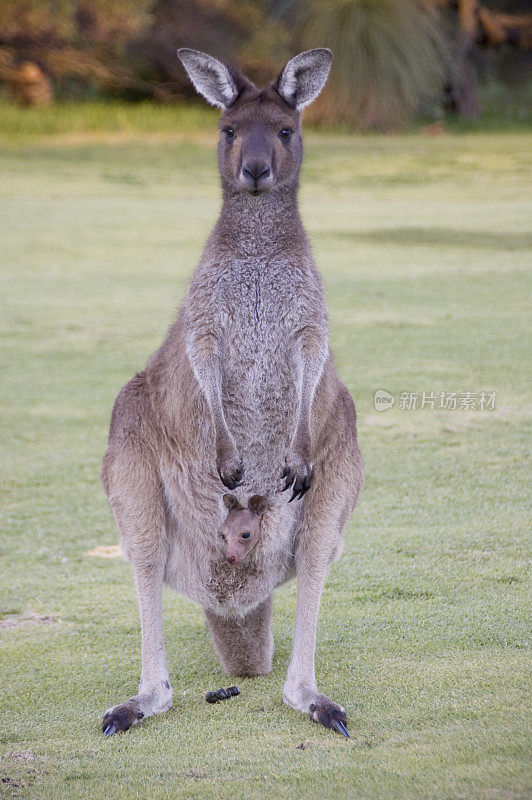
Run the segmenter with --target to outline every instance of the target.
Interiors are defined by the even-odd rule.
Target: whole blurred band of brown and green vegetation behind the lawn
[[[479,82],[520,90],[529,12],[526,0],[3,0],[0,81],[25,105],[173,103],[193,96],[179,46],[237,63],[259,85],[297,50],[328,46],[331,79],[310,118],[387,130],[419,112],[478,117]],[[530,118],[530,103],[518,113]]]

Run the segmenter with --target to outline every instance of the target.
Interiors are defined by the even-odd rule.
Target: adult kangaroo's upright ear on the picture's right
[[[325,86],[331,61],[332,53],[326,47],[306,50],[286,64],[273,88],[289,106],[301,111]]]

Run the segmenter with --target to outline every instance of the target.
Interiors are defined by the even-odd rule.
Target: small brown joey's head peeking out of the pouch
[[[248,507],[243,508],[236,497],[224,494],[224,503],[229,509],[220,533],[226,545],[225,557],[230,564],[241,564],[259,541],[260,521],[268,501],[255,494],[249,498]]]

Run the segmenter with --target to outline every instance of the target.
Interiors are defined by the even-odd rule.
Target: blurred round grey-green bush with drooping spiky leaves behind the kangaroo
[[[308,0],[287,10],[300,46],[327,46],[334,53],[328,89],[311,109],[313,118],[389,128],[441,91],[448,45],[432,3]]]

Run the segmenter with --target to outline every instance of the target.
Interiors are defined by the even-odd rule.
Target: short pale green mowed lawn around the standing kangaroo
[[[276,595],[272,673],[216,706],[205,692],[232,681],[201,609],[165,591],[174,707],[100,732],[136,691],[140,626],[130,567],[87,555],[117,541],[99,466],[114,398],[216,218],[214,125],[0,149],[0,794],[529,797],[523,133],[307,137],[302,212],[367,468],[317,653],[351,738],[282,703],[294,584]],[[494,409],[438,408],[482,391]]]

